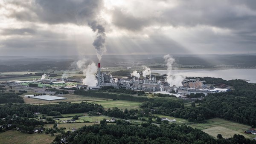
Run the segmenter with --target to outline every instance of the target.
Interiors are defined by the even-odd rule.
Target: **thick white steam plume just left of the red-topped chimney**
[[[95,77],[97,66],[94,62],[87,66],[85,65],[86,62],[87,59],[85,58],[76,62],[77,67],[81,69],[83,75],[85,76],[83,79],[83,84],[86,84],[87,86],[97,86],[98,81]]]

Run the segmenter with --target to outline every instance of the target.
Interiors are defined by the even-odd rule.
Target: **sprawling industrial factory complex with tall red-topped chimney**
[[[137,72],[137,71],[135,71]],[[84,90],[98,90],[102,86],[113,86],[116,89],[125,88],[145,92],[157,92],[163,94],[176,94],[177,97],[183,97],[183,95],[191,95],[196,93],[203,93],[208,95],[209,93],[215,92],[226,92],[230,89],[224,89],[226,86],[221,85],[221,88],[215,88],[209,86],[206,81],[201,81],[199,78],[196,79],[183,79],[180,82],[180,86],[170,85],[166,82],[166,75],[158,75],[147,73],[148,75],[143,74],[143,77],[138,75],[131,74],[131,77],[122,77],[122,78],[113,78],[111,74],[106,72],[101,72],[101,64],[98,63],[98,71],[95,75],[97,79],[96,86],[88,86],[83,84],[83,81],[78,78],[45,78],[43,75],[40,80],[34,81],[8,81],[8,84],[21,84],[22,83],[38,83],[38,84],[49,84],[51,86],[62,86],[64,88],[83,88]],[[68,85],[70,83],[76,83],[76,85]],[[45,97],[45,96],[44,96]],[[38,97],[39,98],[39,97]],[[48,100],[48,99],[47,99]],[[49,98],[49,101],[51,98]]]

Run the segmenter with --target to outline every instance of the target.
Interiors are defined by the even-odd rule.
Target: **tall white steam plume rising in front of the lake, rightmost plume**
[[[171,55],[165,55],[163,57],[165,59],[166,62],[166,66],[167,66],[167,78],[166,78],[166,82],[168,84],[170,84],[170,86],[182,86],[182,81],[185,79],[183,76],[181,75],[174,75],[174,71],[173,71],[173,64],[175,63],[175,59],[172,58]]]

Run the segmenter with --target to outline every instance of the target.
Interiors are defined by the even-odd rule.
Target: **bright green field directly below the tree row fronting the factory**
[[[91,101],[88,101],[91,102]],[[139,109],[140,102],[135,101],[93,101],[92,103],[101,104],[105,109],[118,107],[119,109]]]

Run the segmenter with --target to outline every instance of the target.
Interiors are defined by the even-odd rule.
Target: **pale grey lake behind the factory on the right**
[[[256,69],[177,69],[173,70],[174,75],[183,75],[186,77],[213,77],[224,80],[243,79],[248,83],[256,83]],[[167,74],[167,70],[151,70],[160,75]]]

